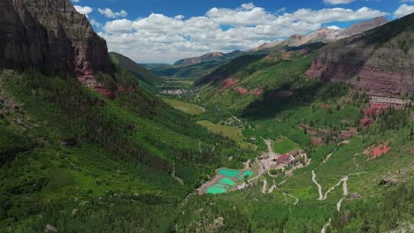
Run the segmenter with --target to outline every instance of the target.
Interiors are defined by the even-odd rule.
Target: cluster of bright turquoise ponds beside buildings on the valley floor
[[[252,170],[236,170],[236,169],[218,169],[217,173],[223,178],[219,179],[216,184],[212,184],[211,187],[208,187],[206,193],[208,194],[221,194],[226,193],[228,189],[240,183],[244,177],[253,177],[255,174]]]

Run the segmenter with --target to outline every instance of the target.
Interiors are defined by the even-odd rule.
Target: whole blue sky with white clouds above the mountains
[[[414,11],[414,0],[73,0],[110,50],[141,63],[252,49],[321,27]]]

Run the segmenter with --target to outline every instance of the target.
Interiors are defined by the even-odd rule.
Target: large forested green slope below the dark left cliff
[[[43,213],[62,227],[55,211],[70,213],[80,202],[89,204],[78,209],[103,211],[98,197],[121,195],[137,208],[174,205],[213,169],[247,158],[233,141],[215,139],[142,89],[133,75],[118,77],[134,91],[110,101],[65,75],[2,71],[1,229],[28,224],[38,231]],[[122,199],[119,211],[129,205]]]

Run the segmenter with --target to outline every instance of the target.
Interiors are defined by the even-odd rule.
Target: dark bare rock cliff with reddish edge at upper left
[[[114,69],[106,41],[70,0],[0,0],[0,67],[27,66],[83,82]]]

